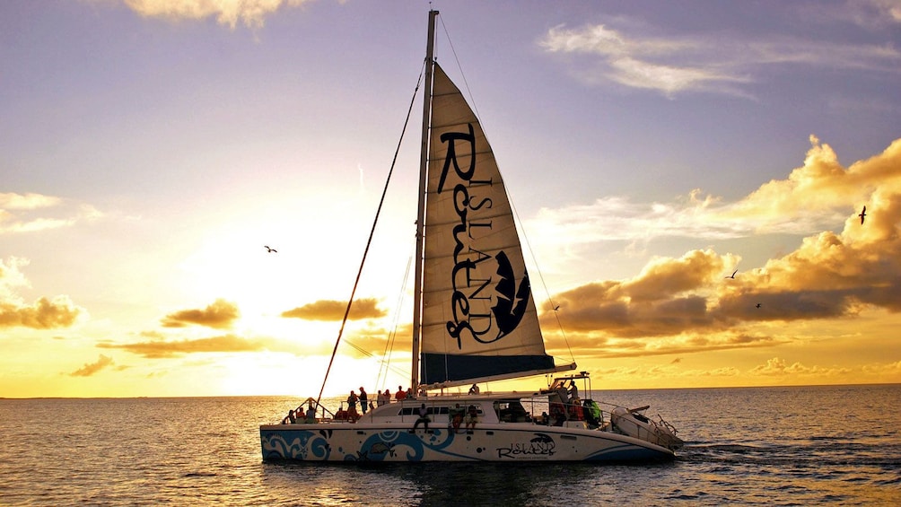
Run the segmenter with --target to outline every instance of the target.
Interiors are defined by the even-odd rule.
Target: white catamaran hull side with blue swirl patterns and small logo
[[[301,461],[594,461],[671,460],[674,454],[608,431],[532,423],[483,424],[474,430],[381,424],[261,426],[267,460]]]

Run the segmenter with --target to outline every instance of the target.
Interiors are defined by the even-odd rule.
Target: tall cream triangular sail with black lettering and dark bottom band
[[[475,113],[434,64],[424,226],[425,385],[512,378],[554,367],[504,182]]]

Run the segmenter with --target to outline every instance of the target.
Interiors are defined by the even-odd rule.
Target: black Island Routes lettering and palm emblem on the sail
[[[491,231],[490,218],[480,213],[491,210],[494,202],[490,196],[491,177],[479,179],[476,167],[476,136],[472,124],[469,132],[445,132],[441,142],[447,143],[447,155],[441,169],[438,194],[445,190],[451,167],[459,182],[453,186],[454,210],[460,222],[452,230],[454,266],[451,270],[451,312],[453,320],[447,322],[451,338],[462,349],[462,335],[469,333],[479,343],[491,343],[510,334],[523,320],[531,290],[529,276],[523,270],[522,279],[516,285],[516,274],[504,250],[491,256],[474,245],[484,231]],[[458,143],[463,150],[469,147],[469,167],[460,167],[457,160]],[[485,194],[480,194],[484,190]],[[471,195],[470,195],[471,192]],[[486,196],[487,195],[487,196]],[[467,244],[464,244],[467,241]],[[493,269],[484,263],[493,262]],[[497,276],[497,278],[495,278]],[[494,294],[486,291],[493,284]],[[496,298],[491,312],[473,312],[472,302],[490,301]]]

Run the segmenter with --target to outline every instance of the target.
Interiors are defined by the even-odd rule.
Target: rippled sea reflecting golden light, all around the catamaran
[[[600,391],[671,463],[264,463],[284,397],[0,399],[0,505],[898,505],[901,385]]]

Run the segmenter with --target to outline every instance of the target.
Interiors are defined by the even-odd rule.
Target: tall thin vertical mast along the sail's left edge
[[[419,391],[419,347],[423,336],[423,258],[425,249],[425,195],[429,167],[429,123],[432,116],[432,73],[434,71],[435,18],[438,11],[429,11],[429,40],[425,47],[425,87],[423,92],[423,144],[419,155],[419,208],[416,213],[416,269],[413,298],[413,364],[410,382],[413,392]]]

